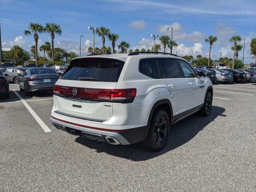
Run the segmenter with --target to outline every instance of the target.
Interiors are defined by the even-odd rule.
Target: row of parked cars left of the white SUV
[[[52,90],[58,78],[68,68],[69,63],[56,66],[52,63],[44,63],[42,67],[36,67],[34,63],[24,62],[22,67],[16,67],[12,62],[0,64],[0,94],[9,98],[9,82],[20,84],[20,90],[26,96],[38,90]]]

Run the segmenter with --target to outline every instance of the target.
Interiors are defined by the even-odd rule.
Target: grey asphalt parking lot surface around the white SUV
[[[57,130],[52,104],[16,84],[1,99],[0,191],[256,191],[256,84],[214,85],[211,115],[172,126],[157,153]]]

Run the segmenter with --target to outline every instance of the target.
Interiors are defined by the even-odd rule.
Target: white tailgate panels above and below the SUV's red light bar
[[[79,88],[115,89],[116,82],[91,82],[76,80],[58,80],[56,85],[79,90]],[[72,93],[73,94],[73,93]],[[83,100],[76,96],[65,94],[64,96],[54,95],[54,105],[57,113],[66,116],[77,116],[82,119],[92,119],[94,121],[104,121],[111,118],[112,102],[101,102],[93,100]]]

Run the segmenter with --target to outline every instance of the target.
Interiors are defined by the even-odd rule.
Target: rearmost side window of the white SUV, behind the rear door
[[[156,59],[143,59],[140,60],[140,65],[139,65],[139,72],[142,74],[158,79],[158,68],[156,65]]]

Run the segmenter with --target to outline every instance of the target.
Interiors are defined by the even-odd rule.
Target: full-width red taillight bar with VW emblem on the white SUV
[[[53,92],[60,96],[66,96],[84,100],[100,100],[108,102],[133,102],[136,96],[136,88],[132,89],[93,89],[72,88],[60,85],[53,86]]]

